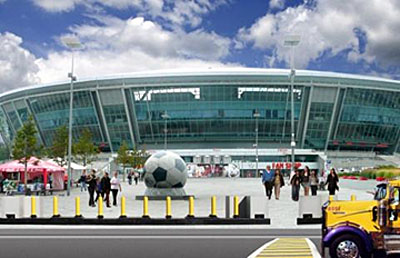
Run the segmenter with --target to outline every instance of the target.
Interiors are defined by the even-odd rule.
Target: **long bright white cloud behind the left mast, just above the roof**
[[[158,69],[238,66],[219,61],[229,53],[230,40],[215,33],[168,31],[141,17],[97,19],[104,24],[71,28],[85,46],[76,53],[78,78]],[[38,77],[46,83],[66,80],[70,62],[68,51],[52,52],[36,61],[40,68]]]

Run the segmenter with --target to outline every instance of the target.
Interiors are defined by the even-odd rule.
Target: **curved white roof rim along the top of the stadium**
[[[84,89],[98,86],[112,87],[112,85],[135,86],[168,86],[168,84],[196,84],[213,82],[218,83],[245,83],[287,84],[289,79],[288,69],[260,69],[260,68],[209,68],[209,69],[172,69],[149,72],[135,72],[108,76],[84,78],[74,83],[74,89]],[[39,84],[21,87],[0,94],[0,102],[9,99],[40,94],[43,90],[50,92],[65,91],[69,89],[69,81]],[[350,86],[365,87],[379,90],[400,91],[400,81],[386,78],[362,76],[346,73],[296,70],[295,84],[318,84],[319,86]],[[183,86],[183,85],[182,85]]]

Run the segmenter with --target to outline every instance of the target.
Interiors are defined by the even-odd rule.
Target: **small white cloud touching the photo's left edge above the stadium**
[[[39,81],[35,56],[21,47],[22,39],[12,33],[0,33],[0,91]]]

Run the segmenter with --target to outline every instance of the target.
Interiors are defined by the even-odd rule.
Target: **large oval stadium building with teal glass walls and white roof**
[[[260,161],[283,162],[290,155],[285,150],[290,148],[293,115],[296,148],[305,153],[296,157],[299,161],[328,150],[399,151],[399,81],[297,70],[291,114],[289,72],[174,70],[78,80],[73,136],[77,139],[83,128],[89,128],[105,152],[116,152],[122,141],[131,147],[163,149],[166,140],[168,149],[192,150],[193,155],[185,157],[191,162],[198,160],[196,150],[225,150],[222,156],[235,160],[246,156],[235,155],[240,149],[247,159],[254,159],[249,153],[258,136],[261,153],[279,152],[261,155]],[[31,114],[39,140],[51,145],[56,129],[68,125],[69,89],[69,82],[64,82],[1,94],[3,140],[10,144]]]

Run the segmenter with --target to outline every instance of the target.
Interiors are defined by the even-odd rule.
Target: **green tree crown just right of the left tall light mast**
[[[92,133],[88,128],[83,129],[78,142],[73,144],[72,151],[74,157],[81,160],[84,166],[94,161],[98,148],[94,145]]]

